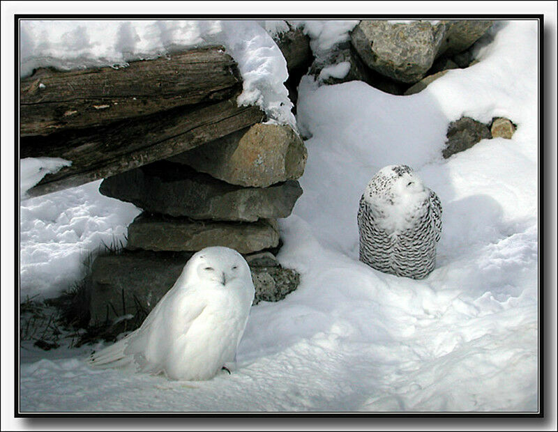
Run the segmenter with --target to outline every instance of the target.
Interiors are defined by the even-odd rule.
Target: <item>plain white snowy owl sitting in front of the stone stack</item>
[[[208,380],[233,362],[254,300],[248,263],[228,247],[206,247],[186,263],[141,327],[90,364]]]

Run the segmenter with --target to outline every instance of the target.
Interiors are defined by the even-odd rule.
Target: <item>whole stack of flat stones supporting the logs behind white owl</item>
[[[302,139],[289,126],[255,124],[105,178],[102,194],[144,211],[128,226],[126,250],[93,264],[93,321],[150,310],[189,256],[208,246],[246,256],[255,302],[285,297],[299,275],[282,268],[270,251],[280,246],[277,219],[289,216],[302,194],[296,179],[306,157]]]

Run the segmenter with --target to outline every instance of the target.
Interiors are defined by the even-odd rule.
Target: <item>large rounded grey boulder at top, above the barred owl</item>
[[[444,26],[428,21],[362,20],[352,31],[351,42],[369,68],[411,84],[430,69],[443,37]]]

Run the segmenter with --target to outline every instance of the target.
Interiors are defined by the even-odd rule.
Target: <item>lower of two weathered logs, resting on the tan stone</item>
[[[263,111],[255,106],[239,107],[237,95],[99,128],[22,137],[22,158],[62,157],[72,161],[70,167],[47,174],[28,194],[38,196],[114,176],[261,122]]]

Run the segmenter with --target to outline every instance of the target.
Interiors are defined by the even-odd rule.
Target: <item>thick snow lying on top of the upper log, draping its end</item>
[[[281,30],[275,23],[269,27],[272,34]],[[22,20],[20,75],[26,77],[46,66],[121,68],[129,61],[172,56],[181,49],[223,45],[242,75],[239,105],[258,105],[271,122],[296,129],[283,84],[288,78],[287,62],[260,24],[251,20]]]

